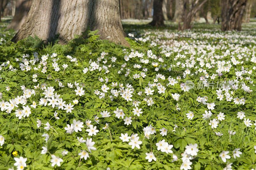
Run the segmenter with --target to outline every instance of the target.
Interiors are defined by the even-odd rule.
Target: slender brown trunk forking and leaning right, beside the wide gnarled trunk
[[[188,0],[184,0],[184,4],[183,4],[183,25],[181,26],[180,22],[179,22],[179,30],[185,30],[185,29],[190,29],[191,28],[191,21],[194,18],[194,16],[196,15],[196,12],[204,5],[204,3],[206,3],[207,0],[204,1],[199,1],[199,0],[192,0],[192,2],[190,2],[191,4],[189,4]],[[187,6],[189,4],[189,9],[187,9]]]

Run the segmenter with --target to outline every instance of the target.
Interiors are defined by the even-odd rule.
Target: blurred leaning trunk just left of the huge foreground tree
[[[18,31],[25,22],[28,12],[30,10],[32,0],[17,0],[15,14],[11,24],[6,29],[14,29]]]

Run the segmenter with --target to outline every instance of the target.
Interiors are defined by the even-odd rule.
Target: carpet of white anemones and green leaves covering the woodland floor
[[[255,22],[241,32],[124,23],[131,48],[97,31],[12,43],[9,22],[1,169],[256,168]]]

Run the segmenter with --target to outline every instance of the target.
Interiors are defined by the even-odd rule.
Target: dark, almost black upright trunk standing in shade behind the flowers
[[[163,16],[163,0],[154,0],[153,4],[153,21],[149,24],[152,26],[164,26],[164,16]]]

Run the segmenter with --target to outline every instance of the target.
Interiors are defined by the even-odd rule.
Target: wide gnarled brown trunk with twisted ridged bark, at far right
[[[222,0],[221,1],[221,30],[242,29],[242,19],[247,0]]]

